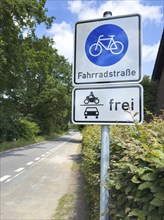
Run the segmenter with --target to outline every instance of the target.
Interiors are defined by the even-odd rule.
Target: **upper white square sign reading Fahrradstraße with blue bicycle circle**
[[[140,15],[76,23],[74,85],[136,83],[141,75]]]

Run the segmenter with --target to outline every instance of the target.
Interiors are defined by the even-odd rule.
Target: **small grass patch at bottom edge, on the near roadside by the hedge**
[[[73,215],[73,204],[75,201],[75,195],[65,194],[58,201],[55,215],[52,220],[66,220]]]

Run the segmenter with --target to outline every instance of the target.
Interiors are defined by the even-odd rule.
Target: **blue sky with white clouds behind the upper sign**
[[[105,11],[112,16],[140,14],[142,17],[142,72],[151,77],[164,27],[164,0],[47,0],[47,16],[55,16],[52,27],[37,28],[39,37],[54,40],[54,47],[73,62],[74,27],[78,21],[99,19]]]

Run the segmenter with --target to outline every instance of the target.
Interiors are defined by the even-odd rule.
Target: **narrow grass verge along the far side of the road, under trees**
[[[59,133],[59,134],[53,133],[53,134],[45,135],[45,136],[38,136],[32,140],[18,139],[16,141],[3,142],[0,144],[0,152],[13,149],[13,148],[17,148],[17,147],[23,147],[23,146],[30,145],[30,144],[35,144],[35,143],[51,140],[61,135],[63,135],[63,133]]]

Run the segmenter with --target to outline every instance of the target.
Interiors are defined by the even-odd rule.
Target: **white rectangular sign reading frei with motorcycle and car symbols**
[[[126,124],[143,121],[141,85],[74,88],[72,121],[75,124]]]

